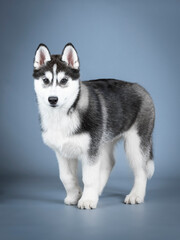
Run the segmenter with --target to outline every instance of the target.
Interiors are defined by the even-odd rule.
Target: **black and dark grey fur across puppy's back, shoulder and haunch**
[[[107,110],[106,132],[109,140],[127,131],[139,118],[138,133],[142,140],[141,145],[144,149],[151,146],[149,154],[152,159],[153,125],[151,121],[154,121],[154,118],[151,114],[154,109],[152,109],[153,104],[144,104],[143,94],[147,92],[145,93],[144,89],[136,83],[115,79],[90,80],[84,81],[83,84],[88,87],[89,106],[86,111],[80,113],[81,126],[77,133],[90,133],[92,139],[90,155],[97,154],[103,134],[101,96]],[[143,114],[144,118],[142,118]]]

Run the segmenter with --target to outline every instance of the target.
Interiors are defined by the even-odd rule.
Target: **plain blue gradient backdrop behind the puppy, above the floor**
[[[156,107],[152,186],[156,179],[179,179],[180,1],[1,0],[0,26],[2,179],[58,182],[55,154],[42,143],[33,87],[41,42],[53,54],[72,42],[81,80],[113,77],[144,86]],[[122,146],[112,180],[132,177]]]

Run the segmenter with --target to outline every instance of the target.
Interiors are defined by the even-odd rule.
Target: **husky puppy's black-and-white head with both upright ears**
[[[38,103],[50,108],[68,108],[79,94],[79,59],[72,44],[62,55],[51,55],[40,44],[34,58],[34,87]]]

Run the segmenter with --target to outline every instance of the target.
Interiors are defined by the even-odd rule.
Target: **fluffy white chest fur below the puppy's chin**
[[[65,158],[80,158],[88,148],[90,137],[87,133],[73,134],[79,127],[79,115],[67,115],[58,109],[40,111],[42,118],[43,141]]]

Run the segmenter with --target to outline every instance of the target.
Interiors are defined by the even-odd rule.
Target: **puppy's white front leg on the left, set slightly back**
[[[56,152],[59,163],[59,175],[64,185],[67,196],[64,203],[67,205],[77,204],[81,197],[81,188],[77,177],[77,159],[66,159]]]

